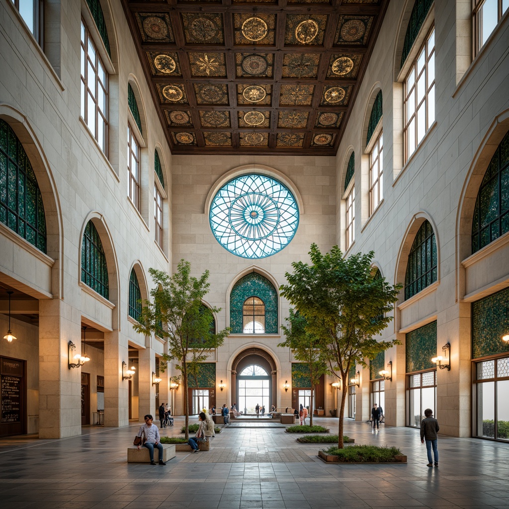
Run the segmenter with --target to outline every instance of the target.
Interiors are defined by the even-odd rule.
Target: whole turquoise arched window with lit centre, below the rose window
[[[230,327],[234,334],[277,334],[277,292],[261,274],[239,279],[230,295]]]

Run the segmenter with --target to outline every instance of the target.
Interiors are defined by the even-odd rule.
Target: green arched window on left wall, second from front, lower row
[[[81,281],[105,299],[109,298],[108,266],[101,238],[92,221],[87,223],[81,242]]]

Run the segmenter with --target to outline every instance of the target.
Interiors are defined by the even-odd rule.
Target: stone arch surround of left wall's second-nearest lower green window
[[[120,330],[120,275],[119,275],[119,265],[117,252],[115,250],[115,244],[113,242],[113,238],[111,236],[111,232],[108,228],[106,220],[104,216],[97,211],[91,211],[87,214],[84,219],[79,236],[79,249],[78,249],[78,281],[81,281],[81,249],[83,243],[83,235],[85,229],[87,228],[87,224],[89,221],[92,221],[94,224],[99,237],[101,238],[101,243],[104,250],[104,256],[106,258],[106,264],[108,267],[108,300],[115,305],[115,310],[112,312],[112,328]],[[128,286],[128,285],[127,285]]]

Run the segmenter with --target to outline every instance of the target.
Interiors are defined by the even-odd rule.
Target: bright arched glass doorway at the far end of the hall
[[[244,414],[255,412],[257,403],[265,411],[276,405],[276,366],[272,357],[261,348],[249,348],[235,358],[232,365],[233,403]]]

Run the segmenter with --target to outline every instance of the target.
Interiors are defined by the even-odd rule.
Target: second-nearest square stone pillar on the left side
[[[104,333],[104,426],[129,425],[129,385],[122,380],[122,361],[129,361],[127,338],[118,330]]]

